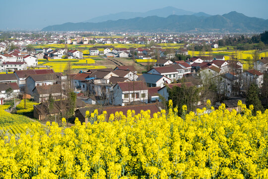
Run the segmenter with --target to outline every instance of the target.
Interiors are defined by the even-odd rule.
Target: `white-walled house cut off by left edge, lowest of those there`
[[[12,89],[12,92],[7,92],[7,89]],[[19,87],[17,83],[0,83],[0,98],[4,100],[18,96]]]

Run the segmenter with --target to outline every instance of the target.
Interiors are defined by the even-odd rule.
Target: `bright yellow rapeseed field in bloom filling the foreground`
[[[0,178],[268,178],[268,110],[254,116],[241,104],[238,114],[207,102],[178,116],[169,104],[167,113],[129,110],[105,121],[95,110],[88,124],[66,128],[63,118],[63,127],[47,122],[46,133],[5,135]]]

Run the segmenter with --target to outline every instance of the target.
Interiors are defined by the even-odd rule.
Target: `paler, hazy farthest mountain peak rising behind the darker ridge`
[[[114,14],[102,15],[86,20],[84,22],[97,23],[97,22],[104,22],[107,20],[130,19],[135,17],[147,17],[153,15],[156,15],[158,17],[168,17],[169,15],[192,15],[192,14],[194,14],[194,12],[167,6],[164,8],[149,10],[147,12],[119,12]]]

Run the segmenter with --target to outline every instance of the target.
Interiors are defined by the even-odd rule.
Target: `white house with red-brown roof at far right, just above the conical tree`
[[[263,86],[264,83],[264,74],[258,70],[248,70],[242,73],[242,79],[244,82],[244,87],[247,89],[249,86],[254,83],[259,88]]]

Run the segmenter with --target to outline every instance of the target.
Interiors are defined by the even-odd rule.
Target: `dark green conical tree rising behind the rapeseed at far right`
[[[254,115],[256,114],[256,111],[258,110],[264,111],[264,107],[258,95],[259,95],[258,86],[255,84],[251,84],[250,88],[247,90],[246,104],[247,104],[247,107],[249,107],[249,105],[251,104],[254,106],[254,109],[253,109]]]

